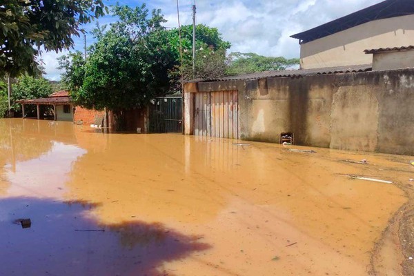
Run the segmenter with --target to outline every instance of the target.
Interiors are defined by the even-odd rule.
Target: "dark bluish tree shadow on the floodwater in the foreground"
[[[0,275],[175,275],[165,262],[210,248],[159,223],[99,224],[90,213],[99,205],[0,199]],[[16,220],[26,218],[23,229]]]

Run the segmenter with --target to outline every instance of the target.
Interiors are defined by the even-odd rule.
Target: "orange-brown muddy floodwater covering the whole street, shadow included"
[[[1,119],[0,275],[410,275],[411,159]]]

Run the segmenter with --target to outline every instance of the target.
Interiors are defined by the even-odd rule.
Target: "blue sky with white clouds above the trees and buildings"
[[[382,0],[179,0],[181,24],[193,22],[192,5],[197,6],[197,23],[218,28],[222,37],[230,41],[230,52],[255,52],[259,55],[299,57],[299,42],[290,35],[302,32],[343,17],[351,12],[380,3]],[[107,0],[108,6],[117,1]],[[121,5],[140,6],[146,3],[152,10],[164,14],[166,27],[177,27],[176,0],[119,0]],[[106,16],[98,19],[101,25],[116,21]],[[92,30],[95,23],[83,26]],[[83,49],[83,37],[75,37],[75,50]],[[93,43],[87,34],[87,44]],[[46,78],[59,80],[57,57],[67,52],[43,52],[41,60],[46,67]]]

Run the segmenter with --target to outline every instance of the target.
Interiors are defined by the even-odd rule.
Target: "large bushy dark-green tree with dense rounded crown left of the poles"
[[[86,108],[138,108],[169,86],[166,67],[174,59],[163,48],[168,36],[161,10],[149,15],[145,5],[117,5],[112,12],[119,21],[106,32],[105,26],[94,30],[97,42],[86,63],[80,53],[61,60],[72,100]]]

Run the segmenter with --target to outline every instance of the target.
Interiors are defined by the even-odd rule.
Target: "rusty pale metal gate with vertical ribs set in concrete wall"
[[[195,94],[194,135],[239,138],[238,93],[235,91]]]

